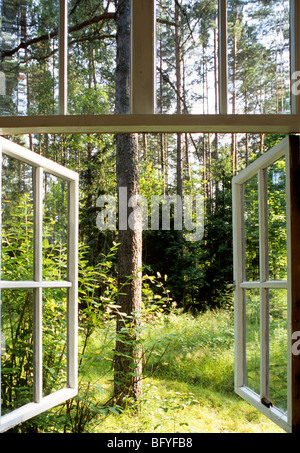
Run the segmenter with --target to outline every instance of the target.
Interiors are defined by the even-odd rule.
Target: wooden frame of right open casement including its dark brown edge
[[[300,284],[297,271],[300,256],[300,215],[299,215],[299,178],[300,145],[298,136],[286,137],[274,148],[249,165],[232,180],[233,193],[233,246],[234,246],[234,284],[235,284],[235,392],[265,414],[287,432],[298,432],[299,416],[299,373],[300,356],[292,354],[292,333],[299,327]],[[286,219],[287,219],[287,280],[269,281],[266,275],[268,256],[266,253],[267,236],[267,188],[266,169],[278,159],[285,157],[286,163]],[[244,281],[244,227],[243,227],[243,185],[258,176],[259,187],[259,253],[260,281]],[[246,386],[246,325],[245,289],[260,289],[261,320],[261,384],[260,395]],[[287,413],[276,407],[267,408],[261,402],[266,396],[268,380],[268,304],[265,289],[287,290]]]

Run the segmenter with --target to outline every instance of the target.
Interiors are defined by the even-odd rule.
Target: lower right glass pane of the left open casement
[[[67,289],[43,290],[44,396],[67,385]]]

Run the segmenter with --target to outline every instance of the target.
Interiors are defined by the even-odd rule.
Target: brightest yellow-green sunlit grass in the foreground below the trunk
[[[111,415],[97,432],[109,433],[280,433],[248,403],[197,386],[151,380],[139,414]],[[194,390],[194,393],[192,391]],[[198,401],[184,407],[186,395]],[[188,399],[188,397],[187,397]],[[172,409],[173,405],[173,409]]]

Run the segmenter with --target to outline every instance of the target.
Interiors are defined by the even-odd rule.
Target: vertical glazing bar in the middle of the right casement
[[[260,169],[259,180],[259,255],[260,281],[269,278],[267,171]],[[260,387],[261,397],[269,396],[269,291],[260,288]]]

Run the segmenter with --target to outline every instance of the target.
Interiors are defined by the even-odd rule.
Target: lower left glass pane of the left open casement
[[[33,292],[1,291],[1,414],[33,401]]]

